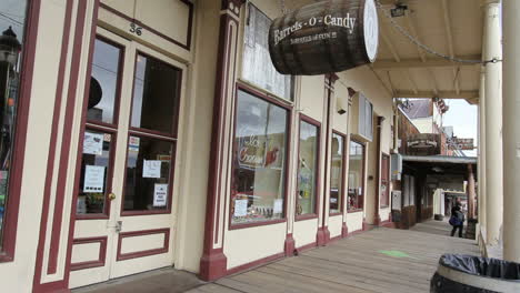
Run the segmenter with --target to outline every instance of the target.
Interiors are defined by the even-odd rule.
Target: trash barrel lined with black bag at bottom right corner
[[[430,292],[520,292],[520,264],[473,255],[444,254],[431,279]]]

